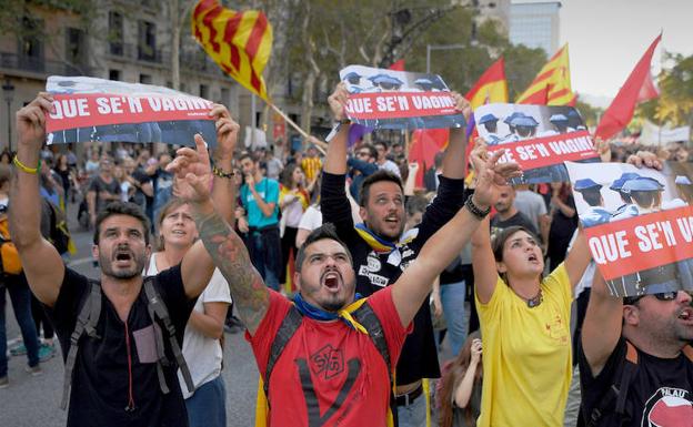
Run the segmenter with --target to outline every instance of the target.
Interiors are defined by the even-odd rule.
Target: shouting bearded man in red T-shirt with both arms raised
[[[268,416],[268,425],[392,426],[391,367],[414,315],[435,276],[488,215],[499,184],[520,173],[516,164],[496,164],[501,152],[485,159],[482,150],[472,155],[479,182],[464,209],[429,238],[391,286],[368,298],[354,293],[352,254],[330,226],[311,233],[297,254],[299,293],[292,304],[264,285],[242,240],[214,215],[209,196],[199,202],[204,207],[193,213],[198,232],[231,287],[265,384],[270,405],[257,414]],[[185,160],[173,161],[178,174],[203,156],[200,150],[183,152]],[[195,199],[204,199],[209,186],[195,190]]]

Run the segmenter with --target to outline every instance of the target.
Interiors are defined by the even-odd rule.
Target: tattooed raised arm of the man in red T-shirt
[[[177,195],[190,203],[200,234],[200,242],[195,245],[204,245],[214,265],[225,277],[239,316],[252,335],[267,313],[269,291],[252,266],[243,241],[214,209],[209,181],[194,173],[195,165],[204,167],[207,163],[209,167],[209,154],[204,145],[199,140],[195,142],[197,151],[180,149],[168,169],[181,180],[175,189]]]

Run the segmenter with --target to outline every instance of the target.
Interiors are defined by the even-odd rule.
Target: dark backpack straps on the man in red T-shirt
[[[390,374],[390,384],[393,385],[394,369],[392,362],[390,360],[390,350],[388,349],[388,342],[385,340],[382,324],[375,315],[375,312],[373,312],[373,308],[371,308],[370,305],[362,304],[359,308],[352,312],[351,315],[358,323],[363,325],[369,334],[369,337],[371,337],[373,345],[375,345],[378,353],[380,353],[385,360],[388,373]],[[272,370],[277,360],[279,360],[279,357],[287,347],[287,344],[289,344],[293,334],[298,331],[299,326],[301,326],[302,321],[303,315],[294,305],[292,305],[285,317],[282,319],[282,323],[277,331],[277,335],[274,335],[274,340],[272,340],[272,345],[270,347],[270,357],[268,358],[264,378],[260,376],[260,384],[258,387],[258,406],[255,408],[255,427],[267,426],[269,419],[269,408],[271,406],[269,400],[269,384]],[[396,425],[394,417],[396,417],[396,403],[394,400],[394,390],[391,389],[388,426]]]

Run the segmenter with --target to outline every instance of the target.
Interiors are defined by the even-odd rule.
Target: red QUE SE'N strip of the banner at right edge
[[[693,206],[660,211],[584,230],[605,279],[693,255]]]

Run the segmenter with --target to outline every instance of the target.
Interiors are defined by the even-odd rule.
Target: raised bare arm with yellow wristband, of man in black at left
[[[58,299],[64,264],[56,247],[41,236],[39,153],[46,141],[46,114],[52,98],[39,93],[17,112],[17,157],[10,186],[10,234],[17,246],[31,292],[48,306]]]

